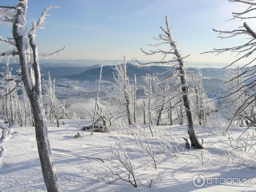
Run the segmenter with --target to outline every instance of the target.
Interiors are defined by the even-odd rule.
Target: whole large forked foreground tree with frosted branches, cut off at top
[[[38,56],[52,56],[63,51],[66,47],[51,54],[38,52],[38,46],[35,44],[35,33],[38,29],[44,29],[44,20],[46,16],[49,16],[47,12],[52,8],[58,7],[46,7],[38,22],[32,22],[32,29],[29,30],[28,36],[26,36],[27,3],[27,0],[19,0],[17,6],[0,6],[0,22],[12,26],[13,34],[13,38],[1,38],[0,41],[14,47],[14,49],[0,53],[0,55],[7,57],[12,55],[19,56],[21,79],[34,117],[35,134],[44,181],[48,191],[59,192],[61,188],[53,167],[47,133],[47,121],[42,102],[41,73]]]

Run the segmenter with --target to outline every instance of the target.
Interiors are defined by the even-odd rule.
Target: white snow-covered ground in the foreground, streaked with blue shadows
[[[65,125],[60,128],[49,127],[49,140],[52,148],[52,157],[62,191],[83,191],[83,192],[170,192],[170,191],[256,191],[256,170],[250,168],[241,169],[233,162],[227,160],[228,145],[220,141],[225,137],[216,137],[198,130],[198,137],[204,139],[204,150],[186,151],[180,158],[165,151],[161,153],[155,150],[157,170],[154,166],[145,166],[141,155],[144,151],[137,147],[133,135],[119,134],[116,131],[111,133],[93,133],[80,131],[81,137],[76,139],[73,136],[79,132],[78,125],[72,120],[65,120]],[[89,125],[89,120],[81,120],[81,125]],[[38,157],[38,150],[35,140],[35,130],[32,127],[17,127],[13,129],[12,137],[6,141],[8,149],[3,161],[6,165],[0,167],[0,191],[1,192],[24,192],[24,191],[45,191],[44,180],[41,173],[41,166]],[[182,137],[187,136],[186,128],[182,126],[160,126],[157,133],[161,139],[154,137],[151,144],[161,148],[160,140],[175,138],[177,143],[183,143]],[[236,129],[233,133],[236,134]],[[155,134],[155,133],[154,133]],[[112,184],[105,184],[106,181],[94,177],[87,168],[99,168],[104,166],[99,160],[84,159],[77,157],[102,157],[106,165],[109,150],[106,148],[111,144],[122,143],[125,151],[134,165],[136,176],[143,186],[134,188],[130,183],[118,180]],[[175,150],[174,150],[175,151]],[[201,161],[203,154],[204,164]],[[236,155],[243,160],[250,161],[249,154],[236,151]],[[237,157],[238,158],[238,157]],[[115,158],[114,158],[115,159]],[[149,159],[150,160],[150,159]],[[202,188],[192,185],[192,177],[195,175],[204,177],[252,177],[252,184],[209,184]],[[152,178],[151,189],[148,181]]]

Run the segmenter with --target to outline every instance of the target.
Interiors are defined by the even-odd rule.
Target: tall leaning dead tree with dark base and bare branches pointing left
[[[165,20],[166,20],[166,29],[164,29],[162,26],[160,27],[161,30],[164,32],[164,34],[160,34],[159,38],[157,38],[157,40],[160,40],[161,43],[152,45],[152,46],[158,47],[163,44],[168,44],[171,47],[171,49],[167,50],[167,51],[164,51],[162,49],[157,49],[157,50],[149,51],[149,52],[145,52],[143,49],[141,49],[142,52],[145,53],[145,55],[154,55],[154,54],[160,53],[160,54],[164,55],[164,57],[161,61],[153,61],[153,62],[147,62],[147,63],[140,62],[136,58],[134,58],[133,61],[140,65],[161,65],[161,64],[170,64],[173,62],[178,63],[178,65],[175,65],[167,70],[169,72],[171,70],[174,70],[173,73],[169,76],[169,78],[173,77],[173,76],[180,77],[180,84],[178,84],[172,90],[169,90],[169,93],[172,93],[173,90],[177,90],[177,88],[179,88],[179,87],[181,88],[183,104],[185,106],[186,116],[188,119],[187,130],[188,130],[191,145],[195,149],[202,149],[203,146],[201,145],[201,143],[199,143],[199,140],[198,140],[197,134],[195,132],[195,128],[194,128],[192,108],[191,108],[191,102],[190,102],[190,98],[189,98],[189,90],[188,90],[188,84],[187,84],[187,80],[186,80],[186,73],[185,73],[184,61],[183,61],[183,59],[188,57],[189,55],[185,56],[185,57],[182,57],[180,55],[180,51],[177,49],[177,44],[172,38],[172,28],[169,27],[169,20],[168,20],[167,16],[166,16]],[[173,56],[173,58],[170,60],[167,59],[167,56],[169,56],[169,55]],[[165,59],[167,59],[167,61]]]

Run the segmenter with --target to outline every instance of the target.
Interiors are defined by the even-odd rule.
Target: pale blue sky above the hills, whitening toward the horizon
[[[17,0],[0,0],[1,5],[15,5]],[[236,29],[242,22],[225,21],[231,11],[242,11],[239,3],[228,0],[29,0],[27,25],[38,20],[48,5],[61,6],[50,10],[45,29],[37,32],[36,41],[41,52],[53,52],[67,45],[68,49],[56,59],[157,60],[146,57],[140,47],[154,43],[160,33],[165,15],[173,27],[173,37],[186,59],[195,63],[230,63],[233,56],[200,55],[212,48],[224,48],[244,42],[243,38],[220,40],[212,28]],[[250,21],[249,21],[250,22]],[[255,26],[255,24],[253,23]],[[1,24],[0,35],[12,36],[11,27]],[[8,47],[7,47],[8,48]],[[0,44],[0,51],[6,46]],[[207,66],[206,66],[207,67]]]

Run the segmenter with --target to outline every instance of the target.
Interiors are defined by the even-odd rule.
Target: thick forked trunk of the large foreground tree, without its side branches
[[[33,65],[31,67],[27,57],[27,54],[29,54],[29,45],[23,32],[23,25],[26,23],[27,0],[20,0],[18,6],[20,9],[17,10],[17,15],[13,21],[12,32],[20,58],[22,81],[26,89],[34,117],[38,154],[41,161],[44,181],[48,192],[61,192],[53,166],[52,154],[48,140],[47,121],[42,102],[41,73],[38,61],[38,49],[35,45],[35,31],[37,26],[33,23],[33,28],[29,32],[29,44],[33,52],[33,55],[30,55],[30,58],[33,59]]]

